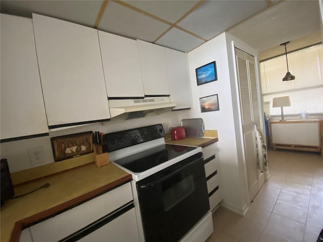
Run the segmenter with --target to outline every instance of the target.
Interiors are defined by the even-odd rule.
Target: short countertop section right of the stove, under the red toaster
[[[167,144],[199,146],[202,148],[210,144],[216,143],[218,141],[219,141],[219,138],[218,138],[217,130],[205,130],[204,137],[200,137],[200,138],[187,137],[182,140],[172,140],[170,133],[168,133],[165,137],[165,142]]]

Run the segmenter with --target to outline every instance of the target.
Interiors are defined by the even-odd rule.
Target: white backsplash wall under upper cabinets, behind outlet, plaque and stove
[[[167,123],[170,128],[178,126],[181,120],[180,116],[186,112],[187,111],[166,112],[157,116],[131,119],[117,124],[105,123],[104,125],[102,125],[102,123],[96,123],[69,129],[51,131],[49,132],[49,136],[45,137],[2,143],[0,155],[1,158],[8,159],[10,172],[17,172],[20,170],[25,170],[55,162],[50,142],[51,137],[76,134],[87,131],[100,131],[103,133],[112,133],[153,124],[164,125],[165,123]],[[169,131],[165,130],[165,132],[168,133]],[[44,162],[38,164],[30,163],[29,149],[35,147],[42,147],[44,153]]]

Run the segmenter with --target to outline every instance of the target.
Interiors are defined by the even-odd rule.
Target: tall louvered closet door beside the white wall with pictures
[[[259,191],[264,178],[258,170],[253,125],[260,127],[257,78],[254,57],[235,48],[241,105],[245,160],[250,201]],[[260,182],[259,182],[260,180]]]

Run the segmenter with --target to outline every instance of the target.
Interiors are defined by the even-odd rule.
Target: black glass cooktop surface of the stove
[[[138,173],[167,162],[194,149],[197,148],[182,145],[160,145],[116,160],[114,163],[121,165],[132,172]]]

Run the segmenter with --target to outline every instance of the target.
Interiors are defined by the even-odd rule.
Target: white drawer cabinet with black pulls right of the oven
[[[220,163],[217,157],[217,144],[202,148],[204,155],[204,168],[207,183],[208,199],[212,211],[222,201],[222,187],[220,178]]]

